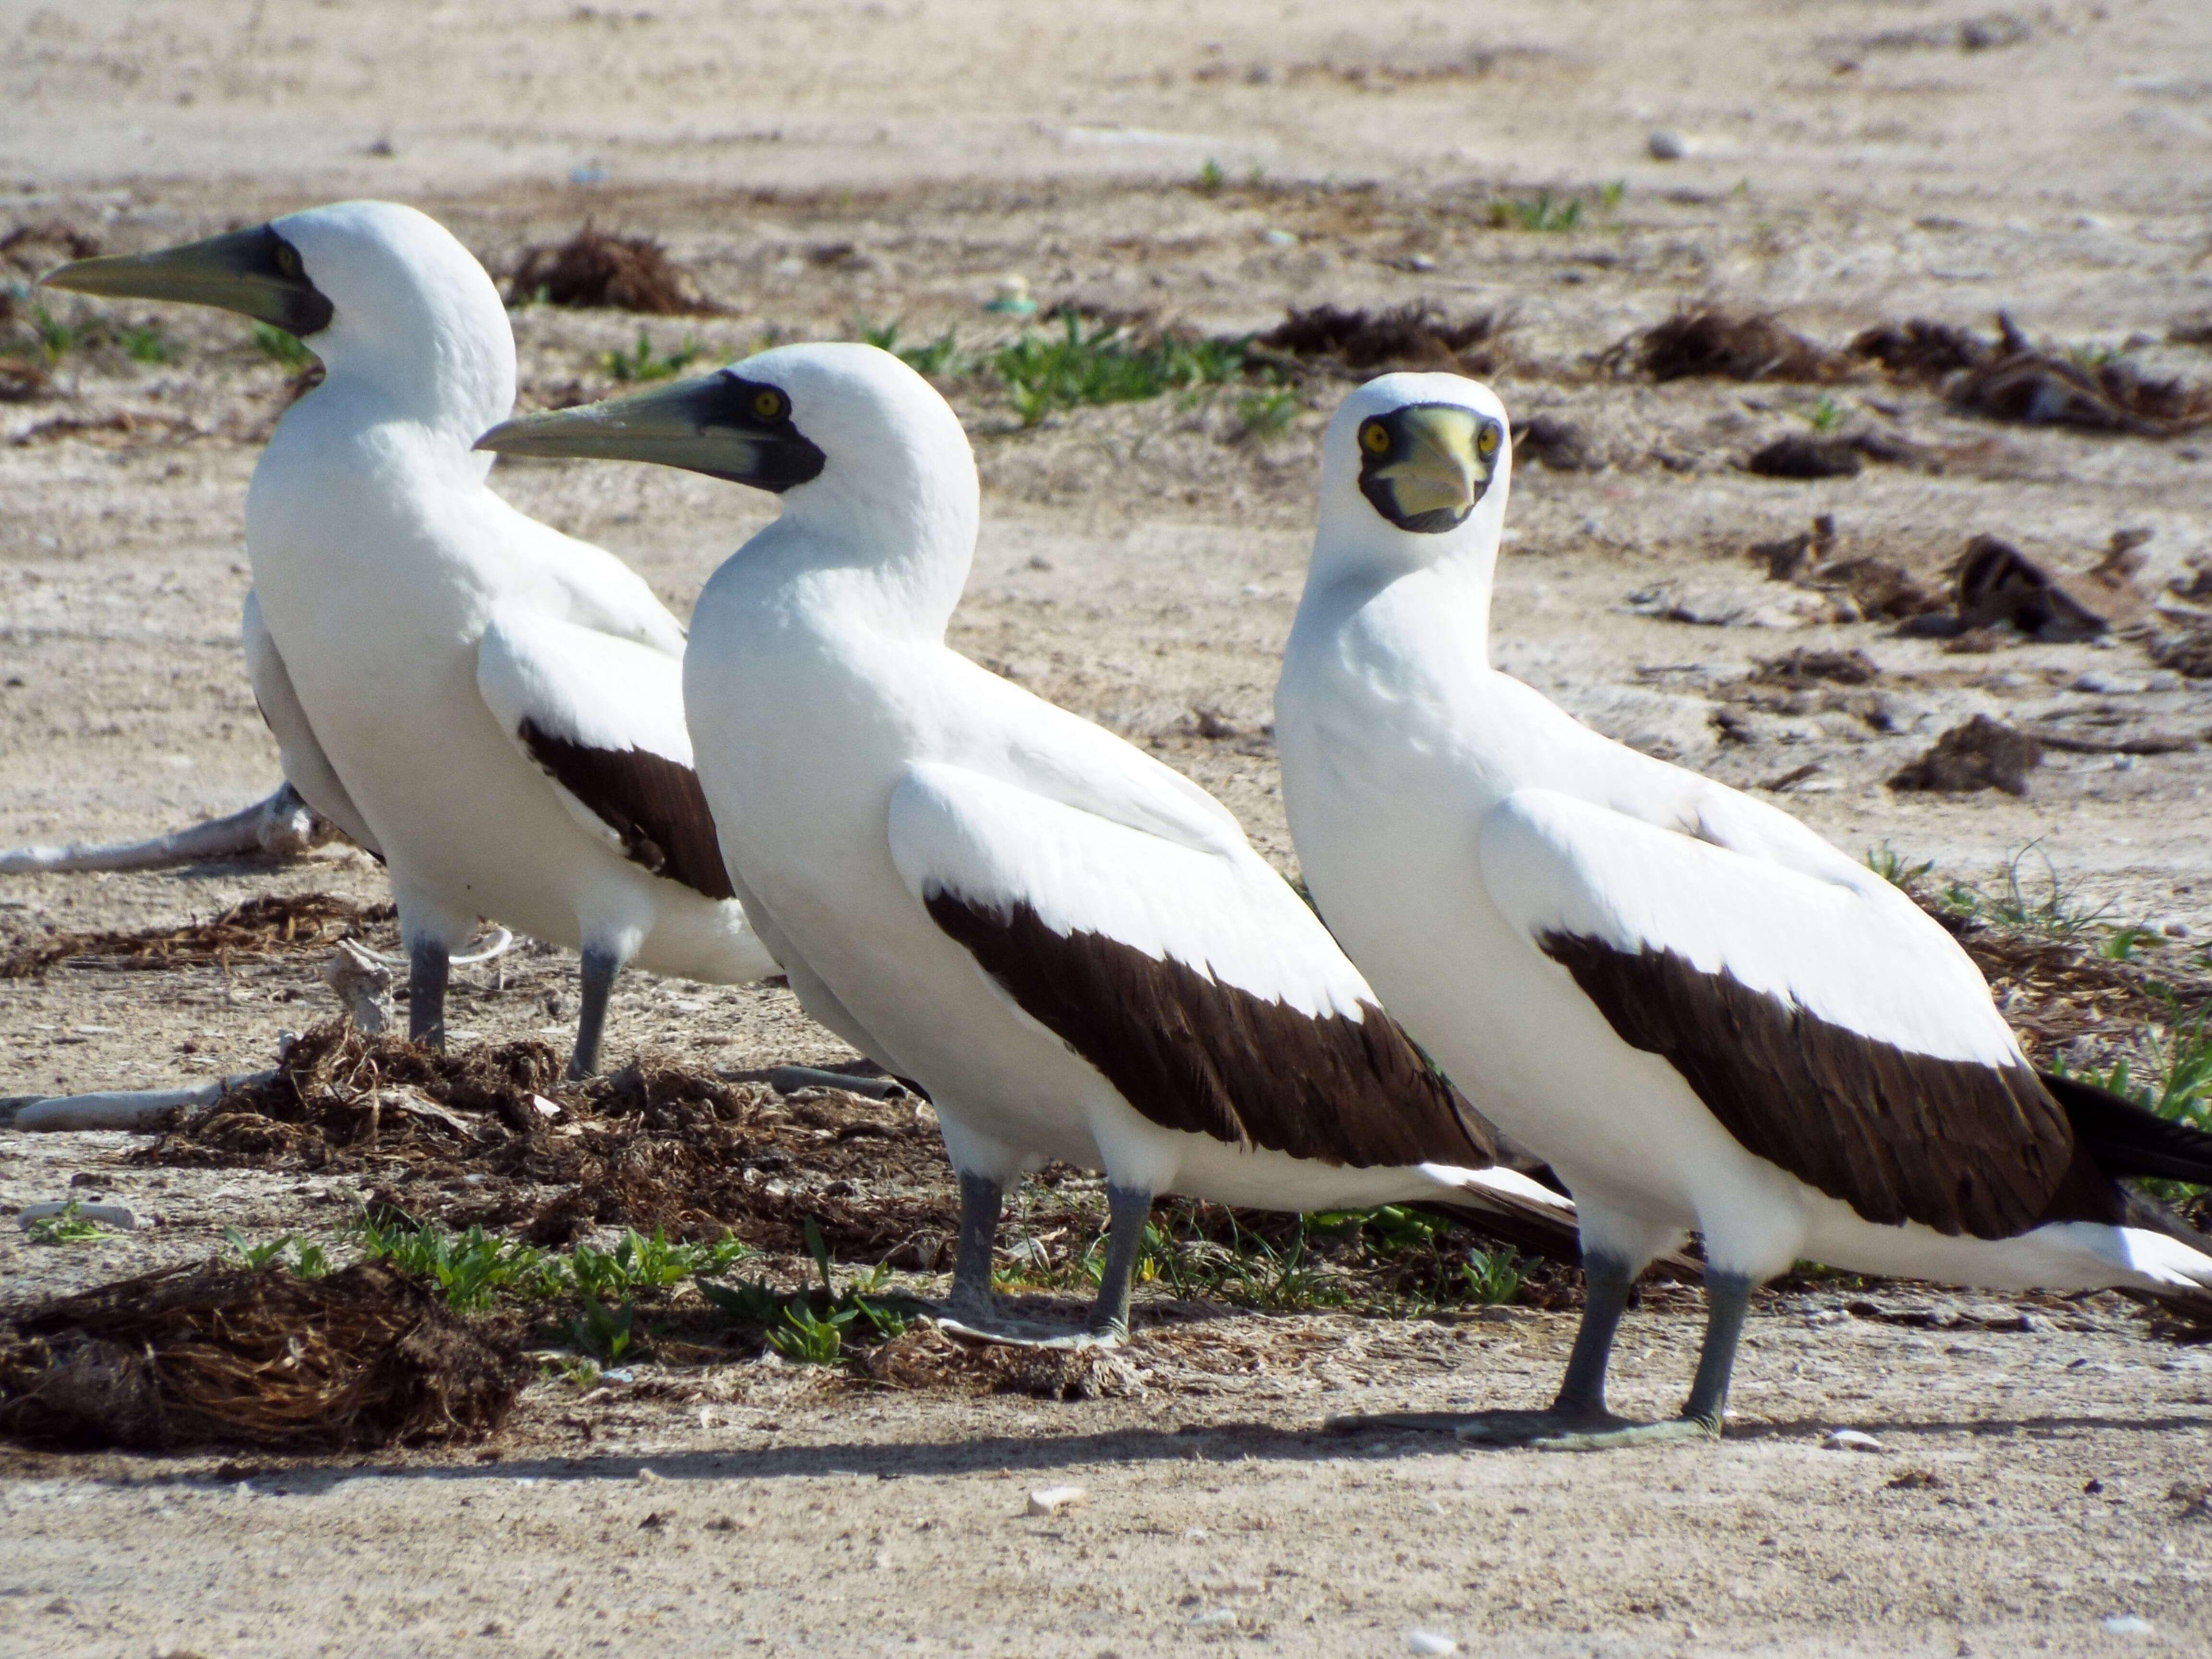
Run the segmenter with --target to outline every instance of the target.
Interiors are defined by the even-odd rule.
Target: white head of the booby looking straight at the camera
[[[1478,562],[1486,580],[1513,480],[1506,407],[1460,374],[1385,374],[1321,440],[1321,522],[1307,591]]]

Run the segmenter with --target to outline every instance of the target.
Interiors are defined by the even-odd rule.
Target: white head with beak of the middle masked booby
[[[925,626],[942,628],[975,553],[960,416],[874,345],[779,345],[695,380],[509,420],[478,447],[650,460],[774,491],[810,557],[896,573]]]

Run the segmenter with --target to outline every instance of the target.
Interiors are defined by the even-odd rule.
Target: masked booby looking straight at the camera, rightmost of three
[[[1276,688],[1321,914],[1582,1219],[1588,1312],[1557,1402],[1462,1436],[1719,1433],[1750,1290],[1801,1256],[2212,1290],[2212,1241],[2121,1181],[2208,1181],[2212,1137],[2037,1075],[1966,953],[1887,880],[1489,668],[1509,451],[1504,405],[1460,376],[1345,400]],[[1690,1230],[1710,1307],[1690,1400],[1624,1425],[1604,1380],[1628,1285]]]

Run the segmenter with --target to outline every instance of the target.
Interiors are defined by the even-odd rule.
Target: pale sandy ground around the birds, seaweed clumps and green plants
[[[1982,49],[1960,44],[1971,20]],[[1683,626],[1630,599],[1721,595],[1790,622],[1796,591],[1745,551],[1816,513],[1845,551],[1924,577],[1982,531],[2084,568],[2141,526],[2150,586],[2212,551],[2194,442],[1993,427],[1865,380],[1832,389],[1845,418],[1940,449],[1944,471],[1774,482],[1739,462],[1803,431],[1814,389],[1590,367],[1679,303],[1725,299],[1832,343],[1916,314],[1986,327],[2006,305],[2212,376],[2201,347],[2163,343],[2212,307],[2212,11],[2057,4],[2015,24],[1949,2],[18,7],[0,15],[0,232],[66,221],[131,250],[378,192],[504,270],[593,217],[661,237],[732,307],[653,319],[655,345],[730,356],[856,319],[980,345],[1004,332],[980,305],[1009,272],[1044,303],[1208,330],[1316,301],[1509,314],[1500,392],[1584,425],[1608,465],[1515,478],[1504,666],[1732,783],[1816,763],[1785,801],[1851,852],[1887,841],[1986,878],[2035,843],[2037,878],[2048,856],[2115,920],[2197,940],[2205,750],[2053,754],[2022,801],[1882,779],[1971,712],[2205,734],[2212,684],[2157,679],[2132,644],[1958,657],[1876,624]],[[1650,159],[1655,128],[1688,157]],[[1206,161],[1223,188],[1192,188]],[[1606,181],[1626,184],[1617,208],[1590,197],[1573,232],[1489,223],[1500,195]],[[239,502],[283,374],[228,319],[159,323],[177,363],[82,354],[53,394],[0,405],[0,843],[144,834],[274,779],[237,648]],[[637,327],[518,312],[524,400],[604,389],[599,354]],[[987,495],[956,644],[1188,770],[1285,867],[1267,699],[1334,396],[1312,387],[1265,442],[1237,438],[1234,394],[1031,431],[960,403]],[[768,511],[648,469],[498,478],[679,613]],[[1874,657],[1887,730],[1750,701],[1752,666],[1798,646]],[[4,878],[0,929],[305,889],[383,898],[343,852]],[[0,1093],[268,1064],[279,1031],[327,1011],[316,969],[0,982]],[[469,975],[453,1024],[560,1040],[571,984],[562,956],[522,953]],[[843,1055],[781,991],[644,975],[611,1042],[737,1068]],[[0,1139],[7,1208],[82,1190],[159,1219],[75,1252],[9,1230],[11,1294],[343,1210],[330,1186],[126,1150]],[[1608,1460],[1321,1433],[1332,1411],[1537,1398],[1571,1316],[1531,1310],[1219,1316],[1139,1338],[1144,1396],[1068,1405],[644,1367],[588,1400],[535,1385],[495,1460],[7,1453],[0,1652],[1402,1652],[1409,1628],[1528,1655],[2201,1648],[2203,1349],[2148,1340],[2106,1301],[1843,1301],[1763,1303],[1730,1442]],[[1668,1407],[1697,1329],[1688,1305],[1632,1316],[1621,1398]],[[1823,1451],[1838,1425],[1885,1451]],[[1064,1482],[1088,1502],[1024,1517],[1031,1489]],[[2115,1615],[2152,1628],[2106,1630]]]

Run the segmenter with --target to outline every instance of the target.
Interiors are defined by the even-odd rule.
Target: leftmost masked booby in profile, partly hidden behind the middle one
[[[285,776],[392,874],[416,1040],[442,1044],[447,958],[480,916],[582,949],[573,1075],[626,962],[776,971],[690,768],[684,628],[484,482],[515,343],[467,248],[347,201],[46,283],[219,305],[323,358],[246,495],[246,664]]]

